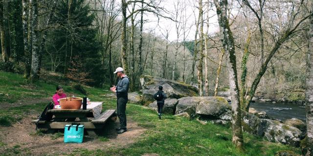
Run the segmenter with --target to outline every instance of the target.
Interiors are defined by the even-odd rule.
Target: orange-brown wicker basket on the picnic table
[[[80,109],[83,98],[60,98],[61,109]]]

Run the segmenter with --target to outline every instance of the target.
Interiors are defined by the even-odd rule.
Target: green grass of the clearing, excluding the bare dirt
[[[4,74],[4,75],[3,75]],[[38,82],[27,84],[25,87],[22,76],[0,72],[0,93],[9,92],[5,88],[14,88],[15,92],[9,92],[9,97],[18,98],[41,98],[52,96],[55,90],[55,84],[46,84]],[[4,81],[6,82],[3,82]],[[31,90],[28,87],[34,86]],[[73,93],[75,96],[83,96],[70,86],[64,86],[67,93]],[[92,101],[104,101],[103,110],[115,109],[116,99],[105,98],[104,94],[109,93],[108,88],[85,87],[88,96]],[[28,93],[29,92],[29,93]],[[1,101],[1,100],[0,100]],[[14,99],[4,98],[2,101],[12,102]],[[24,106],[0,109],[0,121],[12,124],[23,117],[38,115],[45,103],[28,104]],[[184,117],[174,117],[164,115],[159,120],[155,111],[146,107],[127,104],[127,119],[137,122],[138,126],[147,129],[139,136],[133,144],[126,147],[114,147],[105,150],[77,149],[69,156],[141,156],[146,153],[156,153],[160,156],[274,156],[278,151],[290,150],[295,154],[301,153],[300,148],[282,145],[280,143],[271,143],[261,137],[255,137],[250,134],[244,134],[244,150],[237,149],[232,144],[232,132],[229,127],[208,123],[202,125],[196,120],[189,120]],[[2,123],[2,122],[1,122]],[[46,135],[42,132],[31,135]],[[52,139],[62,137],[62,133],[49,135]],[[98,137],[105,144],[109,139],[107,137]],[[0,142],[0,147],[5,143]],[[27,155],[27,149],[21,149],[20,146],[7,148],[5,155]],[[27,153],[28,152],[28,153]]]

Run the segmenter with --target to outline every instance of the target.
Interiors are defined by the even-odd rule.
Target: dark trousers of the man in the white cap
[[[128,98],[117,98],[117,117],[119,118],[120,127],[126,129],[126,103]]]

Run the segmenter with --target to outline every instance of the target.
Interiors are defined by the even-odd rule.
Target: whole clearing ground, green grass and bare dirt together
[[[45,98],[46,95],[52,95],[56,84],[44,82],[25,84],[21,75],[10,73],[0,73],[0,75],[0,83],[2,82],[1,86],[3,86],[0,88],[0,93],[9,95],[0,99],[14,105],[14,107],[1,107],[2,109],[0,109],[0,123],[8,122],[7,125],[0,125],[0,153],[5,155],[206,156],[209,154],[214,156],[274,156],[282,151],[289,151],[294,156],[301,154],[300,148],[272,143],[247,133],[244,133],[245,150],[239,150],[232,144],[231,127],[213,123],[202,125],[197,120],[173,115],[164,115],[160,120],[154,110],[131,102],[127,104],[126,110],[130,124],[128,125],[129,131],[126,133],[117,135],[114,127],[118,127],[118,123],[114,123],[104,130],[108,132],[107,134],[96,138],[86,136],[84,143],[78,146],[64,144],[63,133],[48,134],[35,131],[35,125],[30,123],[41,113],[45,103],[21,102],[24,105],[16,103],[23,98],[40,99],[39,97]],[[70,86],[64,85],[64,88],[67,93],[73,93],[77,97],[83,96],[76,90],[70,90]],[[12,89],[14,90],[12,91]],[[107,88],[88,87],[86,90],[87,97],[92,101],[104,101],[103,109],[115,109],[116,99],[103,96],[110,93]],[[3,103],[0,102],[0,104]],[[138,129],[142,131],[134,134],[134,132],[139,132]],[[22,130],[22,134],[17,140],[12,141],[10,135],[15,135],[14,130]],[[121,141],[118,141],[119,138]],[[38,144],[36,145],[36,143]]]

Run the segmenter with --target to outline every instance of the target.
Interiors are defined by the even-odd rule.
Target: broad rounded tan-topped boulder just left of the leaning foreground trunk
[[[184,97],[178,99],[175,114],[186,112],[190,117],[195,117],[197,113],[200,115],[218,116],[223,115],[223,111],[230,108],[227,105],[228,102],[223,97]]]

